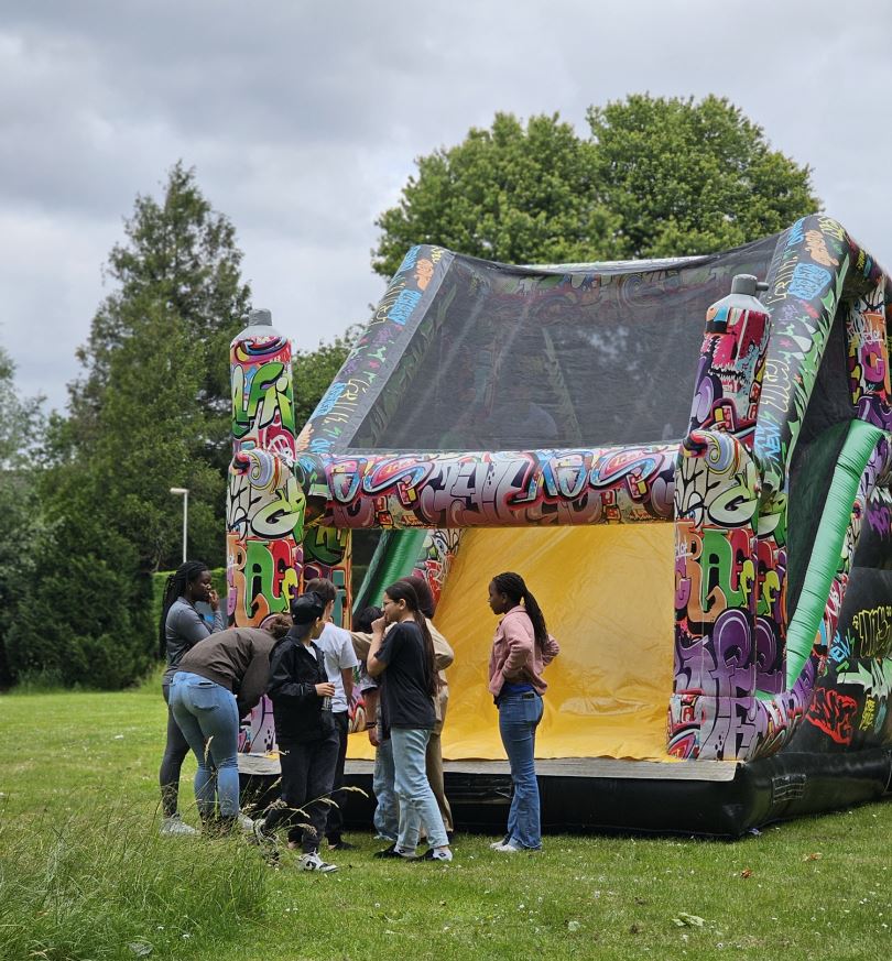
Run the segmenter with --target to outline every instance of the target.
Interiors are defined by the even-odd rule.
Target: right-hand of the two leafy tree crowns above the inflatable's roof
[[[588,111],[601,203],[623,258],[710,253],[788,227],[820,201],[811,168],[771,150],[727,99],[649,97]]]

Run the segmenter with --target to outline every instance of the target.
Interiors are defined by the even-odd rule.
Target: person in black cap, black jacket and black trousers
[[[338,731],[331,717],[335,686],[325,671],[322,651],[314,644],[325,626],[325,601],[308,591],[291,604],[294,626],[270,655],[266,694],[273,703],[275,739],[282,764],[282,798],[254,822],[261,842],[274,840],[289,826],[289,847],[301,847],[303,871],[337,871],[319,858],[335,766]],[[300,822],[300,823],[297,823]]]

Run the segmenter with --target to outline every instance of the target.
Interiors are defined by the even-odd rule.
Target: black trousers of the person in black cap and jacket
[[[338,761],[338,732],[331,731],[318,741],[296,743],[276,736],[282,764],[282,799],[263,819],[263,832],[289,826],[289,841],[300,843],[304,853],[319,847],[328,805],[320,798],[331,795]]]

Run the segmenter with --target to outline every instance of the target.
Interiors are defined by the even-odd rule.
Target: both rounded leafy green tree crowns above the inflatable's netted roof
[[[390,276],[414,243],[509,263],[708,253],[819,207],[811,170],[772,151],[727,100],[654,98],[591,107],[591,135],[499,113],[417,159],[378,218],[372,267]]]

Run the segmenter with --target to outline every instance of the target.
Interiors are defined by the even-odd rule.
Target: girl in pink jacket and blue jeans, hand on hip
[[[503,854],[541,851],[536,728],[542,720],[542,695],[547,687],[542,673],[561,648],[548,634],[542,610],[519,574],[492,578],[489,607],[493,614],[504,615],[492,640],[489,690],[499,709],[499,733],[514,788],[508,832],[490,847]]]

